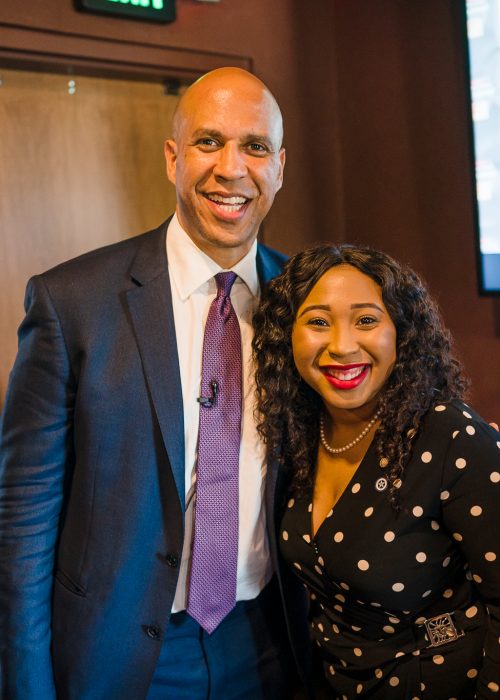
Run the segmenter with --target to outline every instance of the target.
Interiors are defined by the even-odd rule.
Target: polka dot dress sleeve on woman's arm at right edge
[[[490,614],[476,697],[500,698],[500,435],[467,407],[459,418],[444,465],[443,523]]]

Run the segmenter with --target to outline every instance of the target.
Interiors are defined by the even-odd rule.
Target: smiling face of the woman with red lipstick
[[[295,365],[327,408],[375,403],[396,361],[396,328],[371,277],[332,267],[300,306],[292,330]]]

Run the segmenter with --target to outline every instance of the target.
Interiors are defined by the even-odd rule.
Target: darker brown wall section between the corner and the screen
[[[472,379],[471,403],[498,420],[500,299],[477,293],[460,6],[335,2],[343,233],[423,275]]]

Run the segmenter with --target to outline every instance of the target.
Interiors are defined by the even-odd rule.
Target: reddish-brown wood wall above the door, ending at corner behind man
[[[73,0],[0,3],[0,65],[2,59],[54,61],[69,72],[105,69],[181,80],[222,65],[253,70],[282,107],[288,149],[285,185],[263,236],[290,251],[342,225],[331,119],[334,5],[176,0],[176,21],[154,25],[83,14]]]

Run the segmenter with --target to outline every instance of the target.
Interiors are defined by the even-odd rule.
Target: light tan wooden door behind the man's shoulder
[[[2,71],[0,401],[27,279],[158,225],[175,208],[161,83]]]

